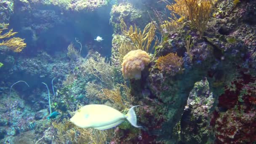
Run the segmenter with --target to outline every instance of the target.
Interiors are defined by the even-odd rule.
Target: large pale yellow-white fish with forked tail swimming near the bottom
[[[96,128],[99,130],[106,130],[114,128],[125,120],[128,120],[131,125],[136,128],[141,126],[137,125],[137,117],[133,106],[127,113],[122,114],[117,109],[102,104],[89,104],[83,106],[75,112],[75,115],[70,119],[72,123],[80,128]]]

